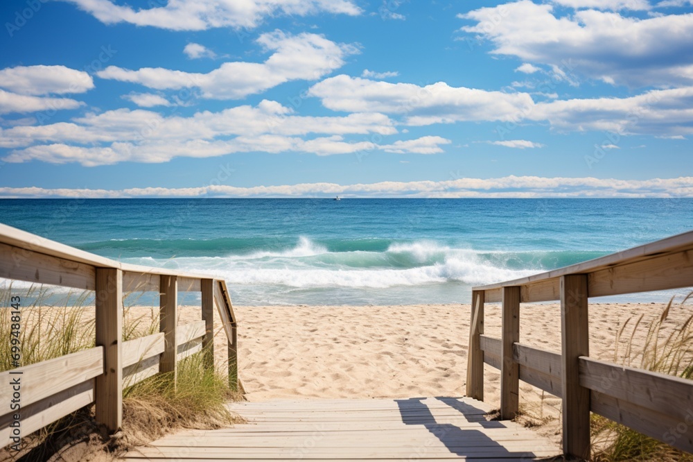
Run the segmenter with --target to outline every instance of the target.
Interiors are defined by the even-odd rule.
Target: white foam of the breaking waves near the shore
[[[301,237],[294,248],[230,257],[133,259],[138,264],[181,268],[223,277],[229,284],[295,288],[421,286],[445,282],[487,284],[536,273],[493,266],[469,249],[432,241],[394,243],[385,252],[331,253]]]

